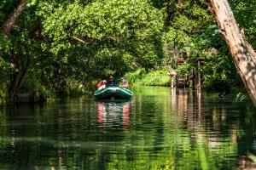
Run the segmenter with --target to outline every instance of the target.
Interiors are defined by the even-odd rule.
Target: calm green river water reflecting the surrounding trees
[[[0,111],[0,169],[234,169],[256,153],[247,103],[170,88]]]

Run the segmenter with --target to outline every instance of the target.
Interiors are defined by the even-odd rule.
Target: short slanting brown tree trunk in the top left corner
[[[9,15],[9,19],[6,20],[5,23],[3,24],[3,32],[6,35],[10,34],[10,31],[15,25],[15,21],[19,18],[20,14],[22,14],[23,11],[25,10],[27,3],[28,0],[21,0],[18,7],[15,8],[14,12]]]

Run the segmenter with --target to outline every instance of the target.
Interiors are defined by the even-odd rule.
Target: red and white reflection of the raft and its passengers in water
[[[97,122],[104,126],[113,126],[122,123],[129,126],[130,123],[130,102],[98,102],[97,103]]]

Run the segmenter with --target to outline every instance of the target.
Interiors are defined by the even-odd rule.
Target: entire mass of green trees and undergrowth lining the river
[[[255,4],[230,5],[255,48]],[[20,93],[35,101],[90,93],[110,74],[168,86],[171,68],[200,71],[207,90],[242,86],[207,0],[3,0],[0,11],[0,105]]]

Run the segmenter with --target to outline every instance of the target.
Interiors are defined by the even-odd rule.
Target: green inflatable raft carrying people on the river
[[[96,90],[94,96],[96,99],[131,99],[133,93],[126,88],[107,87],[102,90]]]

